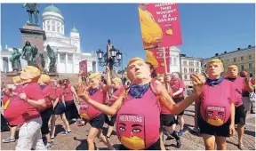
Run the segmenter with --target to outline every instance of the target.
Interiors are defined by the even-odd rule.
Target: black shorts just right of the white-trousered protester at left
[[[49,107],[40,113],[42,122],[43,122],[41,127],[42,135],[48,134],[50,132],[48,123],[52,116],[52,112],[53,112],[53,107]]]

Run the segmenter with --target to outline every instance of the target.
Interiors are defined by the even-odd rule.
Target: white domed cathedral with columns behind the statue
[[[58,54],[57,71],[58,73],[78,74],[79,62],[87,60],[88,72],[97,72],[97,56],[93,52],[82,52],[80,46],[80,35],[75,25],[70,30],[70,36],[64,36],[65,20],[55,5],[44,8],[42,13],[43,30],[45,31],[46,40],[44,41],[44,59],[45,69],[49,67],[50,60],[47,57],[46,46],[49,44],[54,52]],[[22,48],[19,48],[22,52]],[[10,58],[12,48],[1,47],[1,71],[12,71]],[[20,59],[21,60],[21,59]],[[21,66],[26,66],[26,60],[21,60]]]

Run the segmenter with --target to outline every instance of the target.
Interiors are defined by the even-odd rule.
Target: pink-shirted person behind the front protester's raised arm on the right
[[[197,73],[198,74],[198,73]],[[183,92],[185,91],[185,84],[180,79],[180,74],[177,72],[172,73],[171,80],[168,81],[172,89],[172,99],[175,103],[179,103],[184,99]],[[178,123],[180,124],[180,131],[178,132],[179,136],[183,135],[184,131],[184,111],[180,112],[178,115]]]

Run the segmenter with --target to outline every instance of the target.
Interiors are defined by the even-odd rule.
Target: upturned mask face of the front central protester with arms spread
[[[136,60],[128,67],[127,74],[131,81],[136,79],[150,78],[150,68],[145,62]]]

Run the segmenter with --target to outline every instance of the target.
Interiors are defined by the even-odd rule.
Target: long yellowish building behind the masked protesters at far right
[[[245,69],[250,77],[255,77],[255,46],[249,45],[244,49],[237,48],[233,52],[216,53],[215,56],[204,60],[204,70],[207,62],[212,59],[220,59],[222,61],[224,76],[227,75],[229,65],[236,65],[239,72]]]

